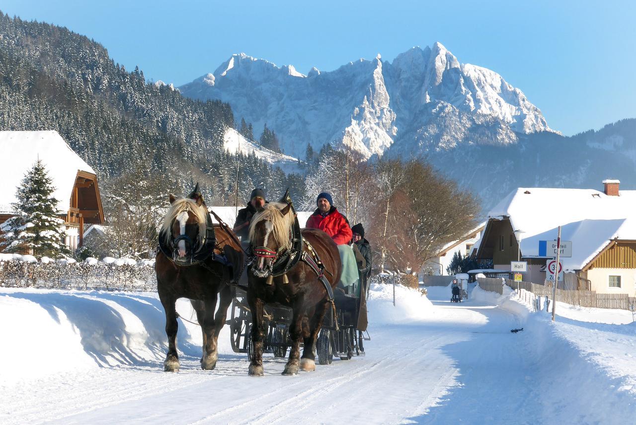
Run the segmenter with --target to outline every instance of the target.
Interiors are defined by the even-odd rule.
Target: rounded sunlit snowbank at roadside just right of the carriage
[[[429,299],[417,289],[395,286],[396,305],[393,305],[393,285],[371,284],[367,308],[369,323],[406,324],[422,321],[433,309]]]

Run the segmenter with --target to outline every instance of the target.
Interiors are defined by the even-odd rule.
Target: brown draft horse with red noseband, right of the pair
[[[283,275],[273,277],[268,284],[277,258],[283,256],[291,247],[291,228],[294,214],[290,213],[291,204],[270,202],[252,218],[249,234],[252,250],[256,259],[247,273],[247,302],[252,312],[252,342],[254,351],[249,365],[249,375],[263,375],[263,306],[276,303],[291,307],[293,310],[289,335],[291,350],[283,375],[296,375],[302,368],[315,370],[315,344],[322,326],[322,319],[329,309],[328,295],[317,275],[303,261],[298,261],[287,272],[288,283]],[[334,288],[340,281],[340,254],[338,247],[327,233],[318,229],[303,229],[302,237],[314,247],[324,265],[325,276]],[[304,244],[307,252],[307,244]],[[269,254],[268,254],[269,253]],[[300,340],[303,339],[303,356],[300,356]]]

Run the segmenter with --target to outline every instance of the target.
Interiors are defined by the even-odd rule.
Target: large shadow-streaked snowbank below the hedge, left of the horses
[[[177,311],[196,320],[188,300],[179,300]],[[13,323],[0,328],[0,339],[18,347],[0,350],[0,364],[11,365],[0,368],[0,389],[102,366],[160,367],[165,358],[165,315],[156,293],[0,288],[0,321]],[[222,337],[219,349],[230,345]],[[201,342],[198,326],[179,321],[179,352],[200,356]]]

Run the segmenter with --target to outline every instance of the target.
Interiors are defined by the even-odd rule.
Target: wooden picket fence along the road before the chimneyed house
[[[501,279],[478,278],[479,286],[485,291],[501,294]],[[506,279],[506,285],[513,289],[524,289],[536,296],[548,296],[552,299],[552,286],[541,285],[532,282],[515,282]],[[569,291],[556,289],[556,301],[581,307],[594,307],[597,309],[621,309],[635,310],[636,297],[627,294],[597,294],[595,291]]]

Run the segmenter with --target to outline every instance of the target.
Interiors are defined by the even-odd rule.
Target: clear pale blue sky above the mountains
[[[63,25],[128,70],[182,85],[245,52],[301,73],[441,42],[520,88],[565,135],[636,117],[634,1],[50,1],[0,10]]]

